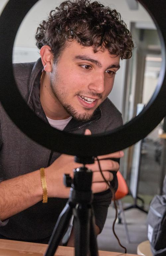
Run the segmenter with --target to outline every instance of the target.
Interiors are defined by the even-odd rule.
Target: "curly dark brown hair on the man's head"
[[[110,54],[129,59],[134,47],[131,34],[116,10],[89,0],[62,2],[43,20],[36,32],[39,49],[49,45],[57,60],[67,41],[93,46],[94,52],[108,49]]]

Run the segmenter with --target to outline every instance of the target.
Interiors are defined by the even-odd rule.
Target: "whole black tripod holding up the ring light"
[[[73,180],[65,174],[65,185],[71,187],[69,199],[62,210],[49,240],[45,256],[53,256],[68,227],[72,214],[74,215],[75,256],[98,256],[95,236],[95,220],[92,208],[92,171],[85,164],[94,163],[94,158],[81,159],[75,157],[75,162],[83,163],[83,167],[73,170]]]

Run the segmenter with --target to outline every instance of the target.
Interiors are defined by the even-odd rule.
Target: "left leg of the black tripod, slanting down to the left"
[[[73,206],[75,207],[75,206]],[[68,203],[64,207],[63,211],[59,215],[59,218],[56,222],[56,225],[54,227],[54,230],[52,232],[52,235],[49,240],[49,245],[47,247],[47,250],[45,252],[45,256],[53,256],[61,239],[62,236],[66,230],[66,227],[69,225],[70,218],[72,216],[72,206],[70,206]]]

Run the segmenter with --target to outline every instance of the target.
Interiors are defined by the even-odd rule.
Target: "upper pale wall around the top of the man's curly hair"
[[[134,1],[134,0],[133,0]],[[0,0],[0,10],[4,7],[8,0]],[[34,34],[40,21],[47,17],[50,10],[55,6],[58,6],[60,0],[40,0],[29,11],[24,18],[18,35],[16,38],[16,46],[34,47]],[[143,21],[145,23],[151,22],[151,18],[139,4],[138,10],[129,10],[125,0],[102,0],[100,1],[104,5],[110,5],[112,8],[116,8],[121,13],[122,18],[130,26],[130,22]]]

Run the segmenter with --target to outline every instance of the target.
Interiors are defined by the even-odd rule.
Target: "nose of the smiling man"
[[[98,74],[91,78],[88,89],[95,93],[103,93],[105,90],[105,77],[103,74]]]

